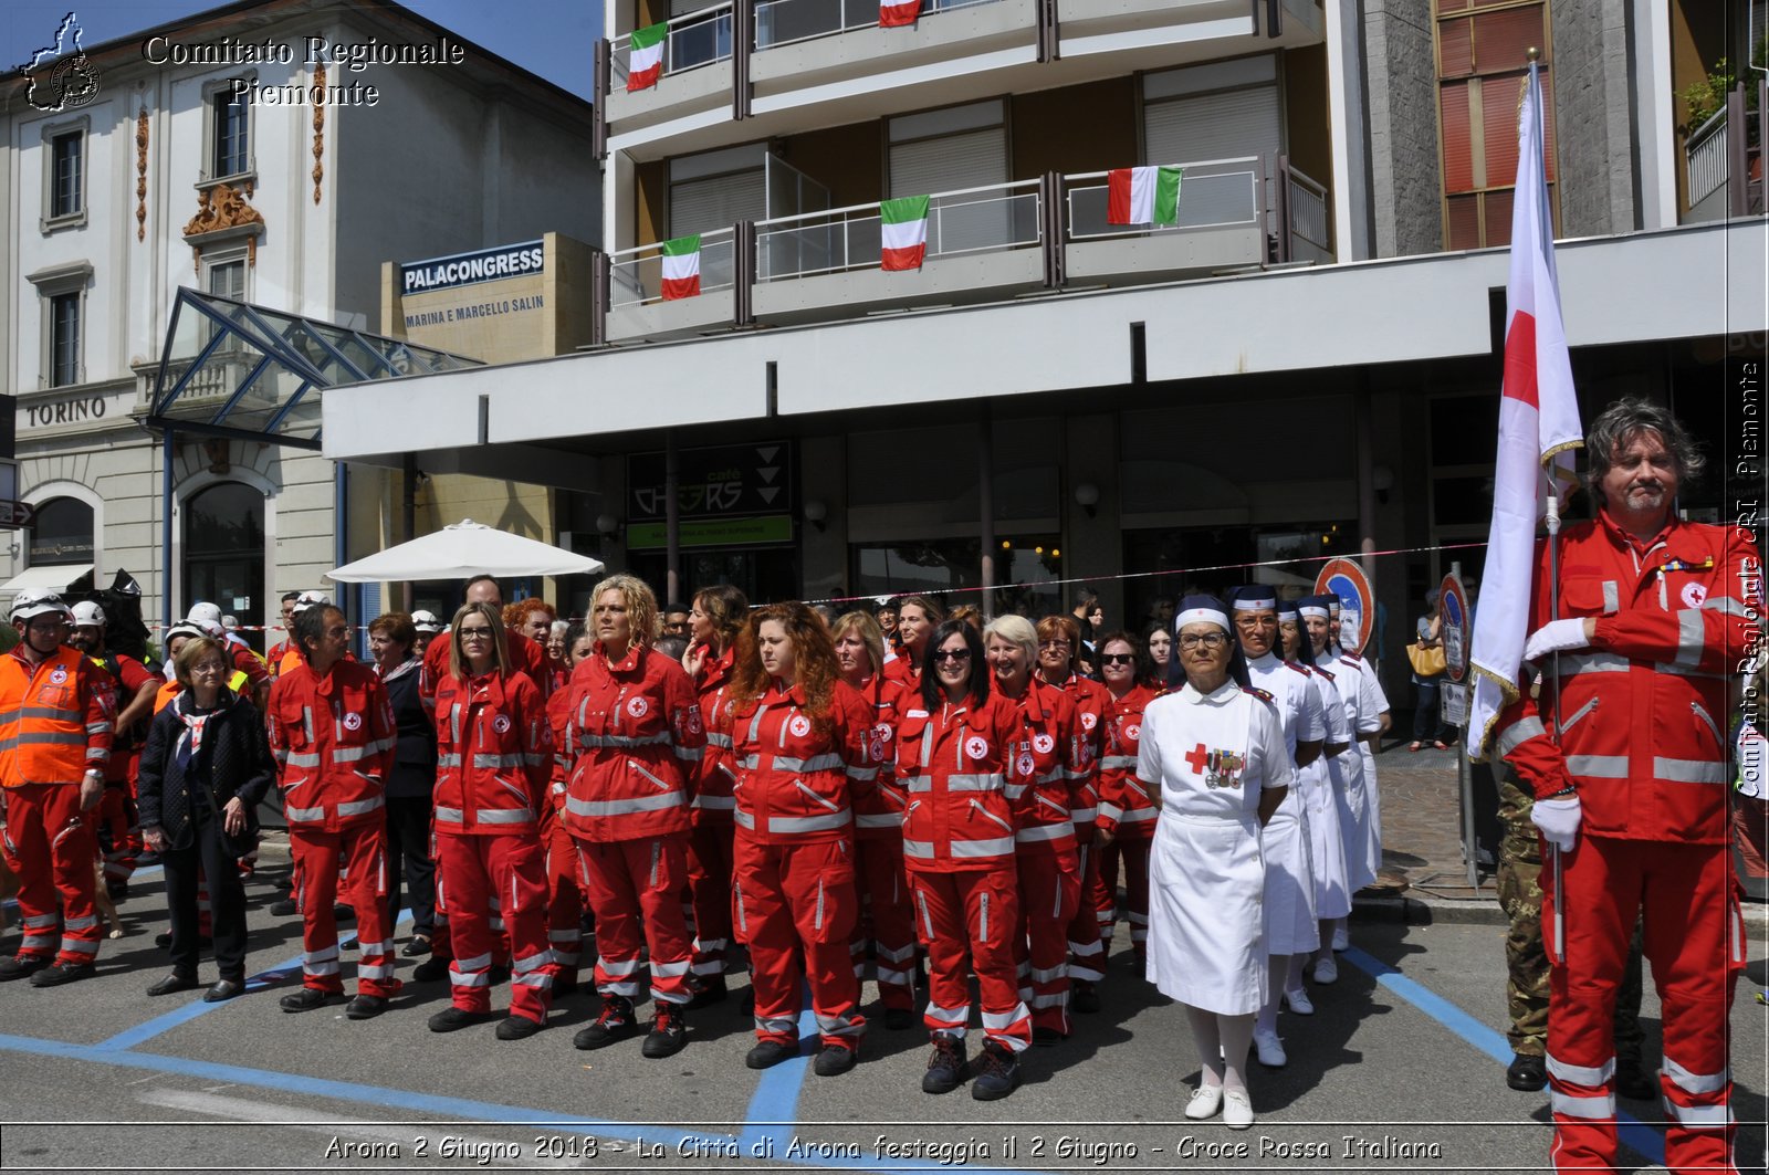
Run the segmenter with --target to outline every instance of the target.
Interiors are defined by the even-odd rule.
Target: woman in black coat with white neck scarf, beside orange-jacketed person
[[[226,687],[234,665],[219,641],[188,641],[173,658],[184,688],[154,715],[142,750],[142,839],[166,871],[172,973],[150,996],[196,987],[196,879],[209,881],[219,982],[216,1003],[246,991],[246,888],[235,858],[251,812],[276,779],[264,718]]]

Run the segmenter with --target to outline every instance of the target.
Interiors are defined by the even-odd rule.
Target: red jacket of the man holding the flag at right
[[[1537,563],[1532,632],[1555,619],[1546,543]],[[1672,520],[1642,545],[1608,513],[1567,527],[1560,616],[1596,616],[1596,635],[1560,655],[1558,703],[1550,662],[1541,699],[1500,713],[1498,754],[1537,796],[1576,786],[1590,835],[1725,844],[1727,680],[1760,614],[1748,531]]]

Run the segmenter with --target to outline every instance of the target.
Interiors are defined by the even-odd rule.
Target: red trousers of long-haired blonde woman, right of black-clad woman
[[[509,927],[509,1012],[547,1023],[552,952],[547,947],[547,860],[540,839],[437,833],[449,887],[449,995],[463,1012],[492,1009],[492,895]]]

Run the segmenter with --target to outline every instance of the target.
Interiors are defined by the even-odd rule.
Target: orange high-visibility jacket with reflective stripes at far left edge
[[[78,784],[110,761],[111,718],[99,669],[60,646],[34,665],[0,657],[0,786]]]

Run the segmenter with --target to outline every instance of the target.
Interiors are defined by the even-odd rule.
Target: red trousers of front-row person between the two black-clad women
[[[343,897],[356,910],[356,989],[396,996],[393,925],[387,920],[387,821],[379,818],[341,832],[288,830],[295,858],[295,906],[301,910],[302,982],[341,993],[338,977],[338,867],[347,869]]]

